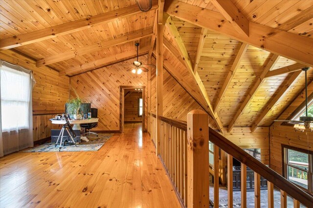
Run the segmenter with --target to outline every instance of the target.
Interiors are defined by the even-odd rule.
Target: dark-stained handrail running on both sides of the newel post
[[[155,114],[151,113],[154,117]],[[159,116],[160,120],[168,122],[171,125],[175,125],[183,131],[187,131],[187,122],[177,119],[166,118]],[[259,160],[248,154],[246,151],[229,141],[226,137],[221,135],[209,127],[209,140],[221,148],[226,153],[232,155],[239,162],[245,164],[251,170],[260,174],[263,178],[271,182],[274,186],[281,190],[286,191],[292,198],[298,200],[300,203],[308,208],[313,207],[313,196],[305,192],[304,190],[298,188],[296,185],[292,184],[286,178],[275,172],[274,170],[268,168],[266,165],[261,163]]]

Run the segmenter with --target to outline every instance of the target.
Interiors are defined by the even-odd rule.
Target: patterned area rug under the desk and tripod
[[[98,137],[89,136],[88,142],[80,142],[77,147],[75,145],[62,147],[61,151],[98,151],[104,143],[106,143],[112,134],[108,133],[99,133]],[[54,147],[55,143],[48,142],[33,148],[26,149],[23,152],[53,152],[59,151],[59,144],[57,147]]]

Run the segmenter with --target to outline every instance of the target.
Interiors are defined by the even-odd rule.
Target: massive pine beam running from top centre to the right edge
[[[313,39],[250,22],[249,37],[243,36],[225,21],[219,12],[203,9],[178,0],[167,0],[164,12],[169,15],[235,38],[273,54],[313,66]]]

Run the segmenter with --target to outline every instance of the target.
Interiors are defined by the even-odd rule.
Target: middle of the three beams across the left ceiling
[[[67,51],[67,52],[57,54],[54,56],[39,59],[36,61],[36,66],[40,67],[40,66],[44,66],[44,65],[53,64],[53,63],[56,63],[59,61],[64,61],[64,60],[67,60],[70,58],[79,57],[79,56],[82,56],[85,54],[89,54],[92,52],[102,50],[104,48],[109,48],[109,47],[112,47],[115,45],[124,44],[124,43],[127,43],[129,41],[134,41],[134,40],[137,40],[140,38],[145,38],[145,37],[152,36],[152,35],[153,35],[153,29],[152,28],[146,29],[146,30],[138,30],[134,33],[131,33],[131,34],[128,34],[128,35],[125,35],[122,37],[102,41],[102,42],[99,42],[97,44],[89,45],[86,47]]]

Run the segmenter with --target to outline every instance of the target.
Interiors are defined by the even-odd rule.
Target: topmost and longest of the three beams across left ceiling
[[[152,10],[157,9],[157,5],[152,6]],[[29,33],[13,36],[2,39],[0,42],[0,50],[19,47],[42,41],[49,38],[66,35],[68,33],[84,30],[99,24],[110,22],[117,19],[127,18],[136,14],[142,13],[138,5],[124,7],[122,9],[106,12],[100,15],[91,16],[89,18],[79,19],[72,22],[48,27],[41,30],[32,31]]]

